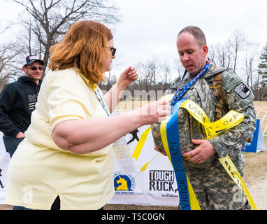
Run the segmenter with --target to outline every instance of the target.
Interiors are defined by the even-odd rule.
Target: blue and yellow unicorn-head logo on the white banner
[[[117,195],[132,195],[136,188],[136,181],[131,174],[121,174],[115,172],[113,174],[115,194]]]

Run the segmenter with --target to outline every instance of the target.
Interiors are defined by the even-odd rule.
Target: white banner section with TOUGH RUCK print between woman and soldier
[[[138,130],[125,136],[130,155],[133,155],[141,134],[148,127],[150,126],[139,127]],[[157,158],[157,155],[159,153],[154,150],[154,141],[150,132],[138,160],[131,158],[136,172],[126,174],[122,171],[120,160],[114,156],[115,196],[108,204],[178,206],[178,188],[171,162],[166,156],[161,155]],[[147,169],[140,172],[147,162],[150,162]]]

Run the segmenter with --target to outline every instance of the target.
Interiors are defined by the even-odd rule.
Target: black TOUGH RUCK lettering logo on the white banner
[[[150,190],[177,193],[175,174],[171,170],[150,170]]]

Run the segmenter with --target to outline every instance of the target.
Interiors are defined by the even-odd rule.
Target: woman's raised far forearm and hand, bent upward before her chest
[[[132,66],[129,66],[122,74],[120,78],[117,80],[117,83],[113,85],[113,87],[104,95],[104,100],[108,106],[110,113],[115,109],[117,103],[122,96],[123,90],[129,85],[133,83],[138,78],[138,74],[136,73],[136,69]]]

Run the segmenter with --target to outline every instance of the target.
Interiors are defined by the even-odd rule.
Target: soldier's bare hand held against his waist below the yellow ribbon
[[[194,150],[182,155],[185,158],[189,157],[188,160],[191,162],[201,164],[216,153],[215,148],[212,146],[212,144],[210,144],[210,141],[208,140],[192,139],[192,143],[199,146],[197,146]]]

